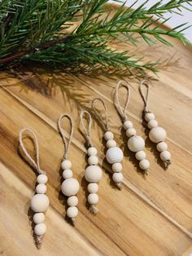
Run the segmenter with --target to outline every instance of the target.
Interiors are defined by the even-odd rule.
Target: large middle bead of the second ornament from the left
[[[75,196],[79,191],[80,185],[76,179],[65,179],[61,184],[61,191],[65,196]]]

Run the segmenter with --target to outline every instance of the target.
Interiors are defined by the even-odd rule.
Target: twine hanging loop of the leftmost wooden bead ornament
[[[28,132],[28,135],[31,139],[33,139],[33,144],[36,152],[36,161],[33,160],[33,158],[30,156],[28,153],[27,149],[24,147],[24,142],[23,142],[23,134],[24,132]],[[39,145],[38,145],[38,140],[37,136],[33,133],[33,130],[24,128],[20,130],[20,148],[24,152],[24,156],[28,160],[28,163],[31,164],[36,170],[38,174],[46,174],[45,170],[41,170],[40,165],[39,165]]]

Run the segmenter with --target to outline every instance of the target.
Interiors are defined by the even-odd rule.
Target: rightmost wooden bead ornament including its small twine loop
[[[146,96],[144,96],[143,94],[142,86],[146,86]],[[144,102],[143,119],[144,121],[146,121],[147,126],[150,129],[149,138],[153,143],[157,144],[156,148],[159,151],[159,157],[162,161],[164,161],[164,166],[167,169],[168,166],[171,164],[171,154],[170,152],[168,152],[167,143],[164,142],[167,134],[164,128],[158,125],[158,122],[155,120],[155,114],[152,113],[148,108],[149,91],[149,82],[147,80],[143,80],[139,86],[139,92]]]

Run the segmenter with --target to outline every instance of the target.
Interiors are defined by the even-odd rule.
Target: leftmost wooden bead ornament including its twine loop
[[[34,148],[36,151],[36,161],[29,155],[28,151],[24,147],[23,134],[24,132],[28,133],[28,136],[33,139]],[[36,135],[30,129],[20,130],[20,150],[24,153],[24,157],[31,164],[35,170],[37,170],[37,187],[36,194],[31,199],[31,209],[35,213],[33,215],[33,223],[35,223],[34,234],[37,248],[41,248],[42,237],[46,233],[46,224],[45,221],[45,212],[50,205],[50,200],[46,196],[46,183],[47,176],[45,170],[41,170],[39,166],[39,146]]]

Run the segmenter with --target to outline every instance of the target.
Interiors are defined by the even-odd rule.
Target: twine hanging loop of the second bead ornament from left
[[[62,121],[62,119],[64,117],[68,118],[68,120],[70,122],[70,126],[71,126],[70,135],[69,135],[69,138],[68,138],[68,143],[67,143],[67,140],[66,140],[66,137],[65,137],[65,134],[64,134],[64,130],[63,130],[62,126],[61,126],[61,121]],[[64,148],[65,148],[63,160],[66,160],[66,159],[68,159],[68,152],[69,152],[70,145],[72,143],[72,135],[73,135],[73,121],[72,121],[72,117],[70,117],[66,113],[61,115],[59,117],[59,120],[58,120],[58,129],[59,129],[60,135],[62,136],[63,144],[64,144]]]

